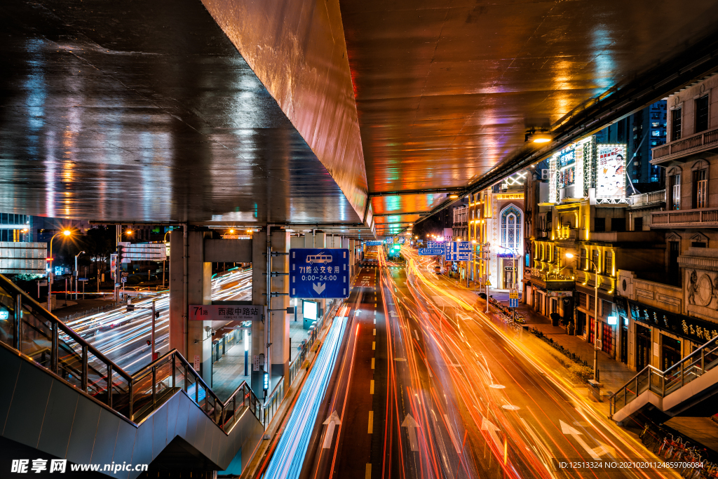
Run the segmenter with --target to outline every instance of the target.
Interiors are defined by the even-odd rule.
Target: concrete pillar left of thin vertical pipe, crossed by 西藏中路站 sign
[[[252,304],[266,304],[266,250],[267,250],[267,233],[264,231],[256,231],[252,235]],[[252,322],[252,358],[266,354],[266,343],[264,339],[264,326],[266,321]],[[267,362],[268,363],[268,362]],[[250,368],[251,378],[250,387],[258,398],[262,397],[262,377],[261,371],[254,371]]]

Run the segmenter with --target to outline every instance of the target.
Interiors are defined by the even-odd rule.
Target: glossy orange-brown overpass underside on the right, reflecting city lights
[[[714,1],[340,0],[369,192],[463,187],[712,34]],[[673,72],[668,72],[666,75]],[[374,213],[416,211],[408,195]]]

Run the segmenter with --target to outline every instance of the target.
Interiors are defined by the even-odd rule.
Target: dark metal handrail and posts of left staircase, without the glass
[[[45,310],[45,308],[42,307],[37,301],[32,299],[32,297],[29,297],[27,293],[22,291],[22,289],[19,289],[19,287],[9,281],[9,279],[7,279],[2,274],[0,274],[0,288],[4,289],[5,292],[10,295],[10,297],[14,298],[16,321],[14,340],[12,341],[13,344],[8,344],[7,346],[17,350],[28,361],[32,361],[33,363],[37,364],[37,366],[51,371],[53,374],[55,374],[55,376],[57,376],[58,379],[60,379],[61,381],[65,381],[65,383],[67,383],[69,386],[75,387],[82,394],[85,394],[86,396],[89,396],[91,399],[93,399],[93,401],[97,401],[98,403],[107,406],[116,414],[126,419],[129,419],[129,421],[133,422],[134,424],[137,424],[136,419],[141,420],[141,418],[146,417],[146,414],[149,414],[149,411],[154,410],[159,404],[164,403],[164,400],[161,400],[159,397],[164,391],[167,391],[168,389],[175,389],[177,387],[177,368],[180,368],[182,370],[183,376],[185,378],[185,381],[183,381],[184,391],[187,393],[188,396],[190,396],[190,398],[192,398],[189,389],[191,386],[194,386],[195,390],[194,398],[192,398],[193,401],[195,401],[195,404],[197,404],[197,406],[200,406],[200,409],[202,409],[202,411],[204,411],[205,414],[210,417],[210,419],[212,419],[218,427],[220,427],[220,429],[223,429],[225,433],[228,433],[229,430],[233,428],[234,424],[229,424],[231,418],[228,418],[226,416],[228,411],[232,411],[233,418],[237,416],[238,410],[236,406],[239,402],[239,394],[241,394],[242,410],[244,408],[252,410],[253,415],[256,417],[256,419],[261,421],[261,418],[259,416],[260,408],[257,407],[258,405],[261,405],[261,403],[251,390],[251,387],[248,386],[246,381],[243,381],[238,386],[238,388],[233,391],[232,394],[230,394],[227,401],[221,401],[219,397],[212,391],[212,389],[210,389],[210,386],[205,383],[204,379],[202,379],[202,377],[197,373],[197,371],[195,371],[192,365],[190,365],[187,359],[185,359],[182,354],[180,354],[180,352],[175,349],[168,351],[161,357],[149,363],[147,366],[144,366],[139,371],[136,371],[136,373],[127,373],[121,367],[117,366],[116,363],[103,355],[103,353],[95,349],[93,345],[84,340],[80,335],[73,331],[72,328],[65,325],[62,320],[58,319],[55,315],[52,315],[52,313]],[[41,330],[39,330],[39,328],[27,323],[38,334],[43,335],[46,338],[51,336],[50,340],[52,346],[49,348],[51,365],[50,368],[47,368],[47,366],[44,366],[42,363],[35,361],[34,358],[27,355],[27,353],[23,353],[22,351],[21,330],[24,329],[22,327],[22,307],[26,307],[27,309],[31,310],[32,314],[36,315],[37,317],[39,317],[40,320],[44,321],[45,325],[49,328],[48,332],[42,332]],[[67,338],[74,340],[75,343],[77,343],[78,347],[73,347],[73,345],[70,345],[64,339],[60,340],[60,332],[67,335]],[[70,381],[67,381],[67,379],[63,378],[58,374],[59,365],[62,363],[62,361],[58,361],[60,350],[73,351],[77,355],[77,361],[80,361],[81,366],[81,378],[79,387],[78,384],[71,383]],[[37,351],[34,351],[33,354],[37,355],[36,353]],[[101,363],[104,363],[104,365],[106,366],[105,377],[103,377],[102,371],[99,371],[98,368],[95,368],[95,366],[90,363],[90,355],[97,358],[98,361],[100,361]],[[45,354],[43,353],[42,356],[44,357]],[[163,368],[165,366],[169,366],[171,368],[171,373],[168,376],[158,377],[157,373],[159,368]],[[77,369],[72,368],[72,371],[74,373],[75,371],[77,371]],[[103,382],[106,382],[107,398],[104,401],[96,396],[93,396],[93,394],[88,393],[88,371],[95,373],[95,376],[98,376],[101,380],[103,380]],[[148,400],[143,403],[142,399],[147,399],[149,397],[147,396],[149,392],[147,390],[139,391],[139,388],[142,386],[141,381],[145,381],[146,378],[148,378],[149,376],[151,376],[151,401]],[[126,386],[124,386],[121,382],[117,382],[119,378],[126,381]],[[164,381],[167,381],[167,383],[164,383]],[[190,381],[192,381],[191,385]],[[160,391],[158,391],[158,386]],[[200,387],[204,390],[204,397],[201,401],[199,395]],[[101,392],[101,389],[98,388],[97,391]],[[127,396],[127,401],[126,404],[123,405],[123,399],[125,399],[123,396],[125,394]],[[114,404],[113,396],[116,396],[117,399]],[[208,397],[211,397],[211,401],[213,404],[211,411]],[[204,403],[204,406],[200,404],[202,401]],[[135,406],[139,407],[136,409]]]

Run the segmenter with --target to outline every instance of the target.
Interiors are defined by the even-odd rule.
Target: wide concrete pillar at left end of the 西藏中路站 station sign
[[[185,310],[185,277],[187,305],[212,303],[212,264],[204,261],[204,239],[211,233],[187,233],[187,274],[185,275],[185,238],[180,232],[170,235],[169,257],[169,348],[177,349],[187,361],[200,360],[200,373],[206,383],[212,383],[212,339],[210,321],[188,321]],[[174,248],[174,250],[172,250]],[[185,348],[186,345],[186,348]]]

